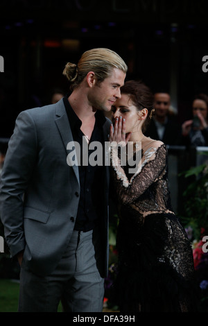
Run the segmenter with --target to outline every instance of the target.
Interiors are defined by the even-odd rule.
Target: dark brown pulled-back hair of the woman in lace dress
[[[142,126],[142,130],[144,132],[148,123],[150,122],[154,110],[154,97],[153,93],[150,91],[150,88],[141,80],[128,80],[121,87],[121,94],[128,94],[138,111],[141,111],[144,108],[148,110],[148,116],[146,117],[146,120]]]

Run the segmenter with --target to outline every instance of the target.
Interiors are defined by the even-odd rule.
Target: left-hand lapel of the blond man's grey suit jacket
[[[72,133],[71,133],[71,128],[69,125],[69,119],[67,117],[67,112],[65,110],[64,107],[64,102],[62,100],[60,100],[57,104],[56,104],[56,117],[55,117],[55,123],[56,126],[58,127],[58,130],[60,132],[60,137],[62,139],[62,142],[64,144],[64,148],[66,151],[66,154],[69,154],[69,151],[67,151],[67,144],[69,143],[69,141],[73,141],[73,137],[72,137]],[[75,164],[71,164],[73,171],[76,175],[76,178],[79,182],[79,171],[78,171],[78,166]]]

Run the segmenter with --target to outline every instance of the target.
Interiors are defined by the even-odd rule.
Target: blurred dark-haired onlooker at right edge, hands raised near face
[[[196,95],[192,103],[193,119],[182,124],[183,144],[208,146],[208,96]]]

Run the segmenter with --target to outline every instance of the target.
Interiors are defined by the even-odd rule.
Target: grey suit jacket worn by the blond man
[[[103,125],[107,141],[110,120]],[[51,273],[73,232],[80,193],[78,166],[67,164],[67,144],[73,141],[64,103],[23,111],[1,173],[1,221],[10,253],[24,250],[24,267],[34,273]],[[101,237],[108,264],[108,186],[105,169]]]

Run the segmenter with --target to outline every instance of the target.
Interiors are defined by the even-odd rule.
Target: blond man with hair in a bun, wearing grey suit
[[[64,69],[69,96],[17,117],[0,199],[6,241],[21,265],[19,311],[57,311],[60,298],[64,311],[102,311],[107,166],[78,166],[67,158],[72,141],[81,149],[83,139],[107,141],[110,121],[103,112],[121,96],[126,71],[113,51],[86,51],[77,66]]]

